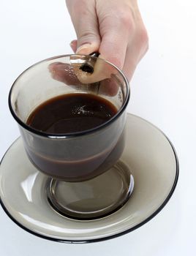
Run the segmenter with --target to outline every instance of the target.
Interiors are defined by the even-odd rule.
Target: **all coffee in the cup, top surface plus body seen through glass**
[[[113,122],[100,132],[74,136],[105,123],[117,112],[108,100],[94,94],[66,94],[39,105],[27,124],[53,135],[73,137],[48,139],[34,136],[26,147],[31,162],[50,176],[65,181],[85,181],[115,164],[124,149],[123,123]],[[25,138],[24,138],[25,139]]]

